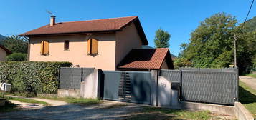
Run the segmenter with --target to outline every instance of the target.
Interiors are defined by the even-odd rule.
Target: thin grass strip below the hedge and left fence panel
[[[70,104],[80,104],[80,105],[90,105],[90,104],[100,104],[102,101],[100,99],[84,99],[84,98],[73,98],[73,97],[43,97],[40,96],[39,98],[42,99],[52,99],[58,101],[66,101]]]

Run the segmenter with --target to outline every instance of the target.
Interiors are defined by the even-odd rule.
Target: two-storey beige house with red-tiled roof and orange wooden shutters
[[[148,45],[138,16],[59,23],[55,18],[51,16],[48,25],[20,35],[29,38],[29,61],[70,61],[73,66],[118,70],[123,69],[118,64],[127,63],[122,61],[129,52]],[[167,56],[171,57],[163,57]]]

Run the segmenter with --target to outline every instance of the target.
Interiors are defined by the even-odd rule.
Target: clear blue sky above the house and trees
[[[22,34],[49,24],[46,10],[57,16],[57,22],[138,16],[150,46],[154,46],[156,29],[162,28],[171,34],[171,53],[178,55],[179,45],[189,42],[191,31],[200,21],[225,12],[242,22],[250,3],[251,0],[1,0],[0,34]],[[255,4],[249,19],[256,16]]]

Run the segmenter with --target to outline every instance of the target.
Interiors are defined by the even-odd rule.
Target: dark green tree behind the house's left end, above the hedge
[[[27,39],[18,35],[7,36],[4,41],[4,46],[13,53],[27,54]]]

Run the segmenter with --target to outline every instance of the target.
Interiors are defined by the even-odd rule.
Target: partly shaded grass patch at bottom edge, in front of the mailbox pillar
[[[154,119],[199,119],[207,120],[212,119],[212,114],[209,111],[187,111],[177,109],[166,109],[156,107],[146,107],[141,112],[131,114],[128,116],[128,120],[154,120]]]

